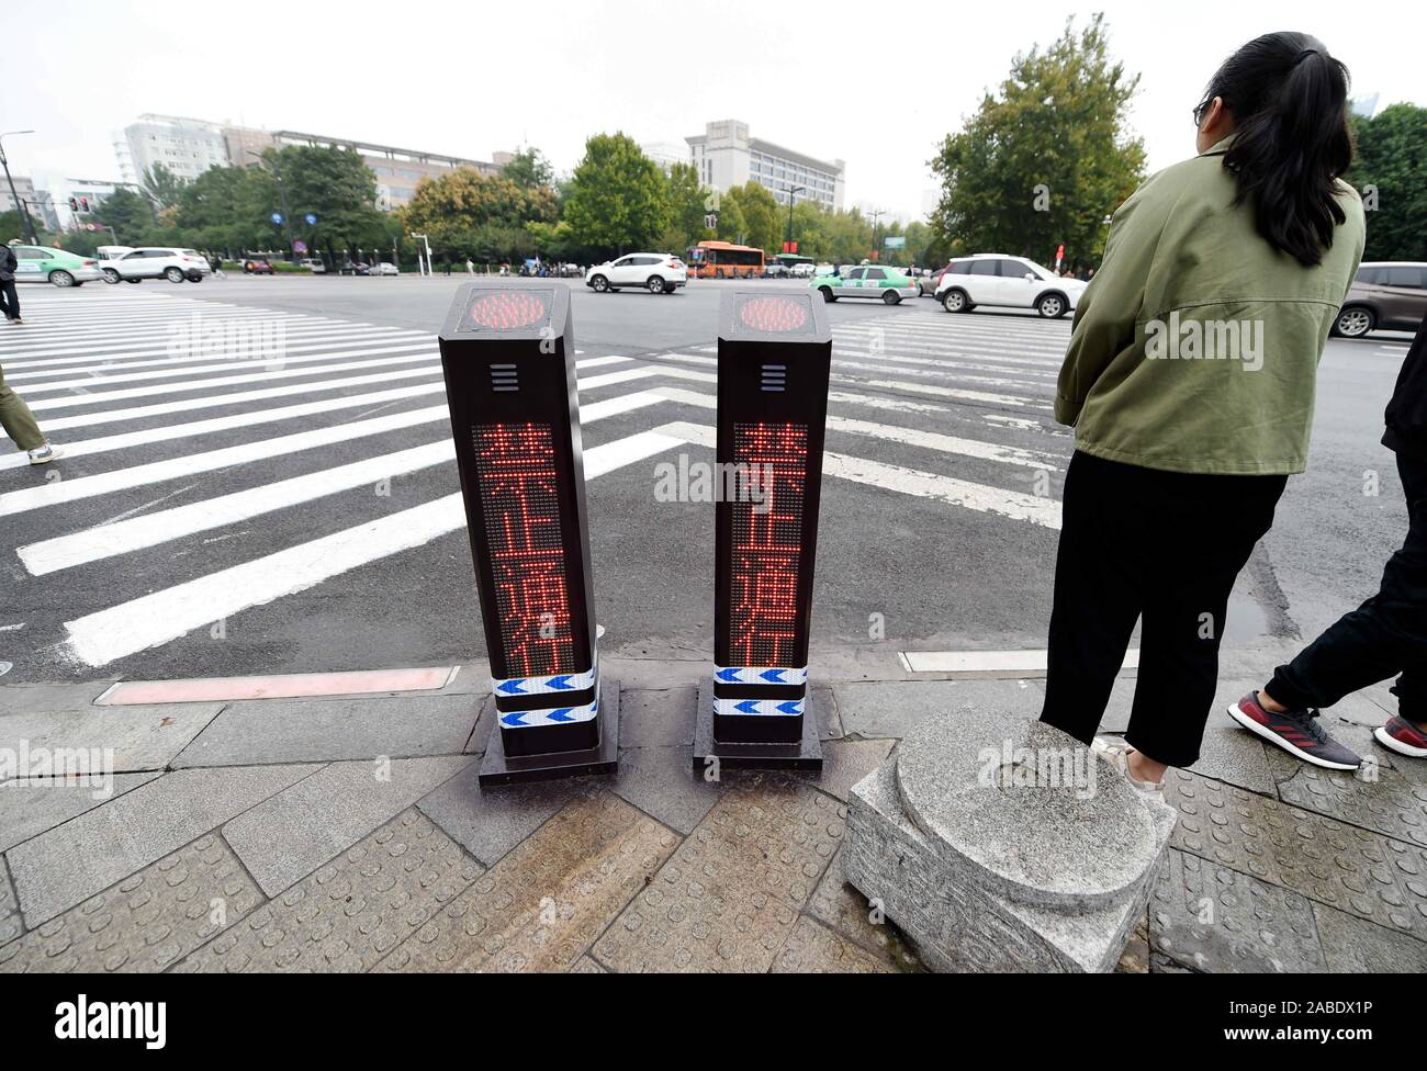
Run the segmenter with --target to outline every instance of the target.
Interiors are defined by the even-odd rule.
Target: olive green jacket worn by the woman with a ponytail
[[[1276,252],[1233,205],[1232,138],[1120,205],[1075,312],[1056,419],[1076,449],[1174,472],[1303,472],[1329,329],[1363,258],[1363,203],[1323,262]]]

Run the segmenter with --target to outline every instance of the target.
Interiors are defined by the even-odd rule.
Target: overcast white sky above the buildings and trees
[[[1104,0],[0,0],[0,133],[16,174],[117,178],[110,133],[140,113],[231,120],[488,160],[532,144],[557,170],[585,138],[676,141],[718,118],[848,164],[848,201],[920,214],[938,141],[1055,39],[1104,10],[1139,71],[1150,170],[1193,151],[1219,61],[1269,30],[1321,37],[1380,107],[1427,104],[1427,4]],[[899,14],[905,11],[905,14]]]

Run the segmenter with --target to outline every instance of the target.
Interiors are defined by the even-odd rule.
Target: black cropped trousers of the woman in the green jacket
[[[1163,472],[1076,451],[1040,720],[1085,743],[1095,737],[1140,619],[1124,739],[1156,762],[1193,766],[1214,702],[1229,593],[1273,525],[1287,479]]]

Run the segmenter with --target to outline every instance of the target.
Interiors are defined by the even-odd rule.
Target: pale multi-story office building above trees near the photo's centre
[[[689,163],[705,185],[729,190],[752,180],[772,191],[779,204],[788,204],[789,191],[802,187],[792,194],[795,200],[842,208],[846,171],[842,160],[819,160],[749,137],[748,124],[732,118],[709,123],[702,134],[684,140]]]

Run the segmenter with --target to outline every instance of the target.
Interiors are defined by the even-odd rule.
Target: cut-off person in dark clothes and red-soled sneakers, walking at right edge
[[[1427,759],[1427,321],[1403,361],[1386,424],[1383,445],[1397,453],[1407,499],[1407,539],[1388,559],[1377,595],[1229,707],[1232,719],[1263,739],[1337,770],[1361,760],[1324,732],[1319,709],[1393,676],[1397,714],[1373,736],[1397,754]]]

